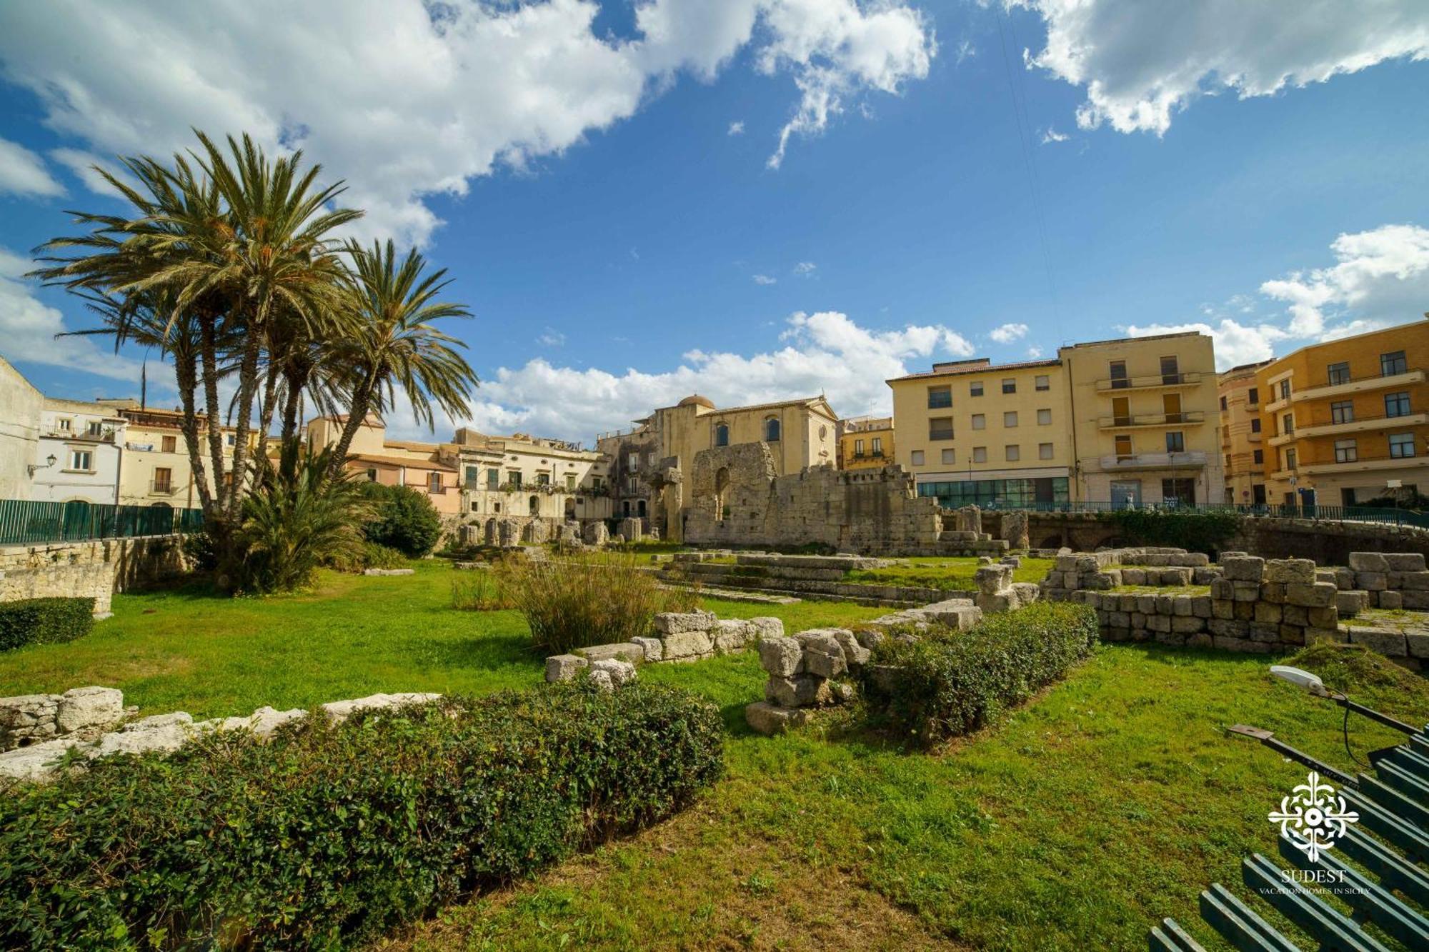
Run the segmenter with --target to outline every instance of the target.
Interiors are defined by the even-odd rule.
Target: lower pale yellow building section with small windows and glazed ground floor
[[[887,382],[896,462],[947,507],[1072,499],[1067,383],[1060,360],[935,363]]]

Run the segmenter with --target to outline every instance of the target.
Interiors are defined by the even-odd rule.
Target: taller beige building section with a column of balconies
[[[1076,499],[1119,506],[1219,503],[1220,400],[1208,334],[1057,349],[1072,406]]]

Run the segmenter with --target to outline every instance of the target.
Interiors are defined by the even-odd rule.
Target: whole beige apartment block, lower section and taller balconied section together
[[[897,462],[945,506],[1222,502],[1210,337],[1099,340],[887,382]]]

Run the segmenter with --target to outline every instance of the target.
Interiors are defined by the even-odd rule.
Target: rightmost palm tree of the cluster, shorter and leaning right
[[[367,250],[350,242],[353,262],[352,307],[356,327],[344,342],[343,369],[334,385],[347,393],[347,420],[332,463],[343,466],[353,437],[367,413],[392,409],[400,390],[412,402],[419,423],[434,426],[434,410],[462,417],[470,413],[476,372],[457,347],[466,343],[432,326],[443,317],[470,317],[464,304],[439,300],[450,283],[446,269],[424,273],[426,259],[416,250],[404,259],[389,240]]]

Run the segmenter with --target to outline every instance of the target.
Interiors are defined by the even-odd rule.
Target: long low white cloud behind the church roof
[[[502,367],[477,392],[472,423],[487,433],[519,430],[590,445],[596,433],[629,427],[630,420],[690,393],[720,406],[825,393],[839,412],[862,413],[870,405],[889,412],[885,380],[919,369],[906,362],[972,353],[962,334],[943,326],[877,332],[837,312],[799,312],[785,322],[776,349],[747,356],[692,350],[677,367],[653,373],[560,367],[544,359]],[[389,426],[413,436],[422,432],[400,407],[389,415]]]

